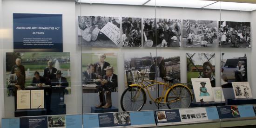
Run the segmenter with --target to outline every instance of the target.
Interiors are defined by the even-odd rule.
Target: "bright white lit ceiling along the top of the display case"
[[[256,4],[219,2],[219,0],[78,0],[82,3],[118,4],[118,5],[144,5],[144,6],[171,6],[206,8],[238,11],[254,11]]]

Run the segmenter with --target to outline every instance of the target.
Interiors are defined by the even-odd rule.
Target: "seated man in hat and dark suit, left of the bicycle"
[[[108,109],[112,106],[111,92],[115,91],[117,87],[117,75],[114,74],[114,68],[112,65],[107,66],[106,75],[103,79],[97,79],[96,81],[100,82],[101,85],[97,87],[100,97],[100,104],[96,108]],[[106,101],[105,101],[105,91],[106,91]]]

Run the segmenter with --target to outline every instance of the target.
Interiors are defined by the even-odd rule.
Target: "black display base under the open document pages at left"
[[[38,116],[38,115],[46,115],[46,109],[26,109],[26,110],[15,110],[14,116]]]

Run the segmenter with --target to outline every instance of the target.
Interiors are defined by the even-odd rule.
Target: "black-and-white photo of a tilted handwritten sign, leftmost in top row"
[[[78,16],[78,42],[85,47],[119,47],[119,17]]]

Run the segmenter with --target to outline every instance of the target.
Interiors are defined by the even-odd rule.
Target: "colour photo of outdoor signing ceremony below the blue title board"
[[[7,52],[7,96],[35,87],[64,87],[70,94],[69,52]]]

